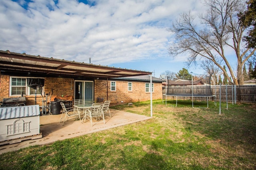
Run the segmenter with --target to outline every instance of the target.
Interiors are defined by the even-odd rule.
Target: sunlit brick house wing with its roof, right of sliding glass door
[[[130,76],[96,80],[95,96],[111,100],[114,104],[150,100],[150,76]],[[162,99],[162,80],[152,77],[152,99]]]

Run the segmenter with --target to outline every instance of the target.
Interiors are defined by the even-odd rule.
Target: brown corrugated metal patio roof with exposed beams
[[[0,71],[45,74],[47,76],[84,76],[88,78],[118,78],[150,75],[151,72],[66,61],[0,50]]]

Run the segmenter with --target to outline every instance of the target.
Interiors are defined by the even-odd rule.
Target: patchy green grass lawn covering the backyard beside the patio
[[[0,169],[256,169],[256,107],[225,107],[155,100],[152,119],[4,153]],[[113,108],[150,116],[150,102]]]

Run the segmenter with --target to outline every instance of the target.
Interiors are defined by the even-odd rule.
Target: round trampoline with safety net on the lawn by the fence
[[[175,107],[177,107],[178,97],[190,97],[192,98],[192,107],[198,108],[198,107],[194,107],[194,98],[206,98],[207,107],[202,107],[202,108],[208,108],[209,107],[208,99],[210,97],[213,97],[215,98],[214,104],[216,106],[216,95],[212,94],[210,78],[211,76],[203,76],[201,79],[194,81],[192,76],[192,80],[189,81],[192,85],[189,85],[189,86],[185,86],[184,84],[183,86],[172,86],[172,84],[170,83],[171,81],[168,80],[168,78],[166,78],[166,94],[163,94],[163,102],[164,102],[164,97],[165,97],[166,105],[167,105],[168,96],[176,97]],[[193,83],[195,82],[202,82],[202,85],[200,86],[194,85]]]

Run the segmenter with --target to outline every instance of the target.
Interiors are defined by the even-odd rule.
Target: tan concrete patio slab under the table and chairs
[[[40,116],[40,131],[42,138],[26,140],[15,144],[0,145],[0,154],[33,145],[46,145],[55,141],[61,141],[68,138],[74,138],[89,133],[103,131],[106,129],[128,125],[139,121],[144,121],[152,117],[128,113],[125,111],[110,109],[112,118],[105,117],[104,123],[96,123],[91,126],[90,121],[81,123],[80,120],[68,120],[62,126],[60,115],[43,115]]]

